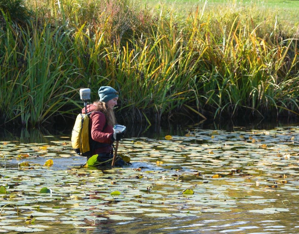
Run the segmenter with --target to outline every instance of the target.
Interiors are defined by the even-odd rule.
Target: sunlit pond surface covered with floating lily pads
[[[80,168],[68,135],[3,137],[0,233],[299,233],[297,125],[172,133],[120,141],[122,168]]]

